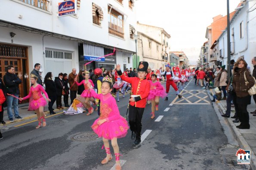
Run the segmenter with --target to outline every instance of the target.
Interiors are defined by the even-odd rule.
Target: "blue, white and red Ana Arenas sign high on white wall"
[[[59,3],[59,17],[75,15],[77,13],[75,0],[67,0]]]

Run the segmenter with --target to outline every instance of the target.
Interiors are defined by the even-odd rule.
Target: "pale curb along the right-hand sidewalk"
[[[211,92],[211,94],[213,95],[213,90],[210,89],[209,90]],[[216,101],[216,105],[218,105],[219,107],[219,111],[222,113],[222,114],[225,114],[225,108],[224,106]],[[223,117],[224,118],[224,117]],[[247,143],[247,141],[244,139],[243,135],[237,130],[237,127],[236,125],[234,124],[234,122],[232,122],[231,119],[228,119],[228,118],[224,118],[226,123],[228,124],[228,126],[230,127],[232,133],[233,133],[233,136],[234,138],[237,140],[238,144],[240,145],[240,147],[244,150],[250,150],[250,161],[251,161],[251,164],[250,164],[250,167],[252,170],[256,170],[256,157],[255,157],[255,154],[253,152],[253,150],[250,148],[249,144]],[[245,164],[247,165],[247,164]],[[249,168],[248,168],[249,169]]]

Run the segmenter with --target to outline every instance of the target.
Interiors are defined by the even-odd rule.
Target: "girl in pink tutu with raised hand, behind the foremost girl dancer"
[[[84,78],[85,78],[85,80],[82,80],[80,83],[77,82],[77,78],[74,78],[74,81],[76,82],[77,86],[81,86],[81,85],[84,86],[84,90],[83,90],[82,94],[80,95],[80,97],[85,98],[85,101],[84,102],[81,101],[80,98],[77,98],[77,99],[83,103],[83,105],[86,107],[86,109],[89,110],[89,113],[86,114],[87,116],[89,116],[90,114],[93,113],[93,107],[90,104],[90,100],[93,101],[93,98],[92,98],[91,93],[89,92],[87,84],[88,84],[88,82],[90,82],[91,86],[93,86],[93,87],[94,87],[94,84],[93,84],[93,81],[89,79],[88,72],[86,72]]]

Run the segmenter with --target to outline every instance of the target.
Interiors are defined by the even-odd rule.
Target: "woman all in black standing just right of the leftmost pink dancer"
[[[57,89],[56,89],[55,82],[52,80],[52,72],[48,72],[45,75],[44,84],[45,84],[45,91],[48,94],[49,99],[51,99],[51,101],[49,101],[48,103],[48,109],[50,111],[50,114],[56,114],[52,108],[57,98],[57,93],[56,93]]]

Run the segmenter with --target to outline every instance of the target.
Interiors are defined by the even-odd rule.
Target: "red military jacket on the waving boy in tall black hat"
[[[120,76],[122,80],[132,85],[133,95],[140,95],[141,100],[130,101],[130,105],[135,107],[144,108],[146,107],[147,97],[150,91],[150,83],[146,79],[139,79],[137,77],[129,78],[125,75]]]

